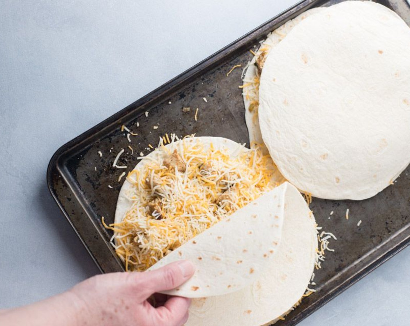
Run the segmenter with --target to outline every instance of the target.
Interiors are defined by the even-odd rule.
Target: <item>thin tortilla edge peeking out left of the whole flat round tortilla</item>
[[[296,18],[293,18],[290,21],[287,21],[285,24],[281,25],[278,27],[276,30],[273,30],[270,32],[267,36],[266,39],[262,42],[260,48],[257,50],[256,55],[252,58],[251,62],[249,62],[248,68],[246,69],[245,75],[244,75],[244,85],[248,84],[248,81],[253,80],[253,78],[256,77],[256,67],[255,67],[255,62],[256,58],[262,53],[262,49],[264,48],[269,48],[269,51],[275,46],[285,39],[287,33],[289,33],[293,27],[295,27],[298,23],[303,21],[308,16],[311,16],[312,14],[316,14],[323,10],[325,8],[312,8],[309,9]],[[269,52],[268,52],[269,53]],[[269,55],[269,54],[268,54]],[[262,69],[263,70],[263,69]],[[248,94],[248,96],[246,96]],[[252,100],[259,100],[258,96],[258,90],[253,88],[253,85],[245,86],[244,87],[244,93],[243,93],[243,98],[244,98],[244,105],[245,105],[245,121],[246,121],[246,126],[248,127],[248,133],[249,133],[249,141],[256,142],[257,144],[263,144],[263,139],[262,139],[262,134],[260,132],[260,127],[259,127],[259,120],[257,119],[257,111],[250,111],[249,106],[251,105]]]

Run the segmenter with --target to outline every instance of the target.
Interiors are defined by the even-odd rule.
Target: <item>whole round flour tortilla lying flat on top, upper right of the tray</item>
[[[410,29],[374,2],[346,1],[296,25],[260,82],[264,143],[283,176],[361,200],[410,162]]]

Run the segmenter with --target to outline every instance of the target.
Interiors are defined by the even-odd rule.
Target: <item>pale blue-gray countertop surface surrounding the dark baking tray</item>
[[[48,192],[55,150],[295,2],[0,1],[0,308],[98,273]],[[300,325],[407,325],[409,271],[407,248]]]

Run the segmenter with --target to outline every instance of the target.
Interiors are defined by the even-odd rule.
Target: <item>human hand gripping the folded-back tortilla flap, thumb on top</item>
[[[67,292],[78,325],[180,326],[188,319],[190,299],[156,294],[155,307],[148,299],[187,281],[195,271],[186,260],[155,271],[93,276]]]

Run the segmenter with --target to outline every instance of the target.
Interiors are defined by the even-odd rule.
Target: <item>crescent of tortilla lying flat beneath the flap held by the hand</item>
[[[240,291],[194,299],[185,326],[259,326],[282,316],[302,297],[314,270],[316,223],[298,190],[285,185],[282,239],[269,268]]]

